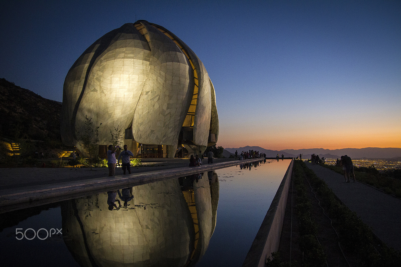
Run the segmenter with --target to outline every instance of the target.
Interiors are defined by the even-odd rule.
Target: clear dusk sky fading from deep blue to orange
[[[43,2],[2,3],[0,77],[45,98],[62,101],[83,51],[141,19],[205,65],[218,146],[401,148],[401,1]]]

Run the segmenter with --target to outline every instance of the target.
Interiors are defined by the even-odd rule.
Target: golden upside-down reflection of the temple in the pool
[[[127,207],[113,210],[108,209],[107,193],[61,206],[63,238],[77,263],[195,265],[205,254],[216,225],[217,174],[211,171],[135,186],[132,196]]]

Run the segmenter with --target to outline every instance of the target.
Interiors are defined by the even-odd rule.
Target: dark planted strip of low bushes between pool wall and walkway
[[[283,261],[280,248],[266,266],[400,266],[400,251],[377,239],[300,160],[294,162],[293,182],[293,210],[298,219],[293,228],[298,227],[300,238],[292,247],[298,246],[302,257]]]

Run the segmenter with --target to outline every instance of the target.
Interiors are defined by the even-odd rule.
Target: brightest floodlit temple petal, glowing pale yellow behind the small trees
[[[102,141],[109,139],[109,130],[117,125],[130,126],[150,62],[150,49],[139,32],[118,34],[116,39],[96,59],[81,100],[85,105],[77,112],[77,122],[85,121],[87,115],[93,125],[102,123]]]

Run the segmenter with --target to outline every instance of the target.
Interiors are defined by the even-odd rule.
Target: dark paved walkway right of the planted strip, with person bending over
[[[401,199],[356,181],[345,183],[344,176],[307,162],[308,168],[387,245],[401,249]]]

